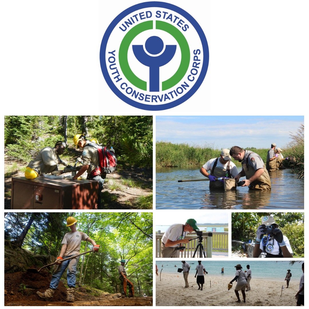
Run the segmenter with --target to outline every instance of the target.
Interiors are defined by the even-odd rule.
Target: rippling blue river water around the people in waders
[[[237,167],[241,171],[241,166]],[[156,209],[304,209],[304,180],[291,169],[269,173],[271,190],[210,190],[198,167],[156,169]],[[245,177],[240,178],[240,180]]]

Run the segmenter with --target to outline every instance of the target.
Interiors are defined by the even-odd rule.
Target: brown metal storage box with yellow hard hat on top
[[[11,209],[96,209],[98,191],[93,180],[13,177]]]

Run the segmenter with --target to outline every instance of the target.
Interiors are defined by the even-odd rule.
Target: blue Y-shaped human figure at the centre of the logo
[[[150,36],[145,42],[145,49],[151,55],[162,52],[163,40],[159,36]],[[165,66],[176,53],[176,45],[166,45],[164,52],[159,56],[148,55],[143,45],[132,45],[136,59],[144,66],[149,66],[149,91],[159,91],[160,66]]]

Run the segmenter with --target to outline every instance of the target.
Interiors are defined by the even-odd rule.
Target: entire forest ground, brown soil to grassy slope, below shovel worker
[[[33,267],[34,268],[34,267]],[[107,292],[91,288],[89,286],[83,286],[75,288],[75,303],[66,302],[66,286],[62,281],[59,282],[57,289],[55,290],[53,298],[50,301],[44,301],[40,298],[36,291],[44,292],[49,288],[49,283],[52,275],[46,270],[42,269],[40,273],[30,272],[16,272],[4,274],[4,305],[5,306],[98,306],[104,301],[115,301],[111,294]],[[115,294],[113,294],[115,295]],[[116,298],[117,300],[117,298]],[[119,298],[119,301],[123,300]],[[142,299],[143,300],[143,299]],[[146,299],[144,299],[146,301]],[[141,302],[141,298],[125,298],[128,303]],[[82,303],[83,302],[83,303]],[[146,304],[142,302],[144,306],[152,305],[152,297],[148,299]],[[105,303],[105,305],[108,305]],[[110,304],[109,304],[110,305]],[[115,305],[117,302],[115,301]]]

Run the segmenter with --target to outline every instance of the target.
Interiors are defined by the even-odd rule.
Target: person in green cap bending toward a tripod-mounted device
[[[179,257],[179,251],[176,250],[181,244],[188,243],[191,239],[184,239],[186,233],[199,230],[194,219],[188,219],[185,224],[172,224],[162,236],[161,257]],[[180,250],[183,252],[183,250]]]

